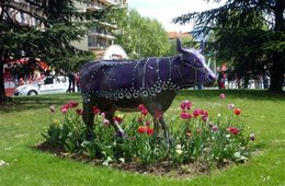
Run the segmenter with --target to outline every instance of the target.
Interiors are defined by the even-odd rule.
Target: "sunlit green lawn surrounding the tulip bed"
[[[49,105],[75,100],[79,94],[16,97],[0,106],[0,185],[285,185],[285,95],[263,91],[182,91],[166,113],[169,120],[183,100],[207,109],[214,117],[224,105],[240,107],[248,132],[254,132],[253,158],[244,164],[214,170],[209,175],[189,179],[126,173],[111,167],[91,166],[35,150],[35,143],[49,123]],[[226,112],[223,109],[223,113]],[[130,114],[126,114],[130,115]],[[129,117],[129,116],[128,116]],[[179,126],[176,126],[179,127]]]

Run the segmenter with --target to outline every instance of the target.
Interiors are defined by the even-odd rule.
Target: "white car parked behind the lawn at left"
[[[68,85],[67,77],[46,77],[39,83],[18,86],[14,95],[65,93],[68,91]]]

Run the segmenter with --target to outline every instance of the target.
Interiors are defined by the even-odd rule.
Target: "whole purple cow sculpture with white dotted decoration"
[[[151,57],[140,60],[101,60],[83,66],[80,85],[83,97],[83,120],[89,128],[89,138],[94,138],[94,114],[98,106],[117,132],[123,130],[113,121],[116,111],[137,112],[144,104],[153,116],[155,133],[161,127],[164,138],[170,139],[163,113],[170,107],[181,89],[194,85],[212,85],[215,75],[205,63],[201,50],[185,49],[178,39],[178,51],[173,57]]]

